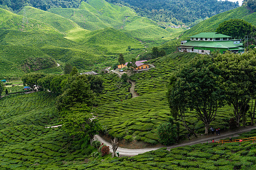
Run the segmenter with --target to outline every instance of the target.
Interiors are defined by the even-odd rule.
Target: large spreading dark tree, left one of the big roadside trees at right
[[[170,107],[181,112],[195,110],[196,117],[205,125],[205,134],[217,109],[224,105],[225,95],[219,86],[222,79],[217,72],[211,57],[196,57],[181,68],[175,84],[168,89]]]

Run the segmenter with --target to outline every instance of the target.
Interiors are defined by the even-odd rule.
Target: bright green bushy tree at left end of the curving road
[[[102,129],[96,111],[86,104],[76,104],[61,112],[63,128],[69,135],[81,138],[89,137],[92,144],[93,137]]]

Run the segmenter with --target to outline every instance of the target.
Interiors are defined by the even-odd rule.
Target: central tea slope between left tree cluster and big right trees
[[[135,80],[135,91],[140,95],[132,99],[125,98],[130,86],[119,84],[118,88],[118,77],[105,75],[105,94],[97,100],[101,100],[98,107],[100,122],[109,135],[128,142],[137,140],[152,145],[158,143],[156,128],[171,117],[166,98],[168,78],[179,66],[195,56],[195,53],[173,53],[148,61],[154,63],[155,68],[130,77]],[[218,109],[216,119],[210,126],[225,130],[232,112],[233,108],[228,105]],[[204,133],[203,122],[197,120],[194,112],[188,112],[186,120],[196,133]],[[182,122],[180,125],[181,138],[186,137],[188,131]]]

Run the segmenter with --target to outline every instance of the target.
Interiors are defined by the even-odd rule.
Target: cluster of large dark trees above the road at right
[[[218,108],[233,106],[233,119],[237,127],[245,125],[246,114],[254,124],[256,108],[256,50],[243,54],[212,53],[192,59],[170,78],[168,102],[174,118],[180,118],[192,134],[185,113],[196,111],[208,134],[210,123]],[[251,102],[251,106],[249,103]],[[230,127],[232,128],[232,127]]]

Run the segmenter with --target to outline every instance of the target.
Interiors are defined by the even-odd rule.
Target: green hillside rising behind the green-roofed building
[[[230,11],[222,12],[212,16],[211,18],[196,24],[188,31],[185,31],[182,37],[196,35],[200,32],[214,32],[218,24],[230,19],[243,19],[247,22],[256,25],[256,12],[251,11],[246,6],[241,6]]]

